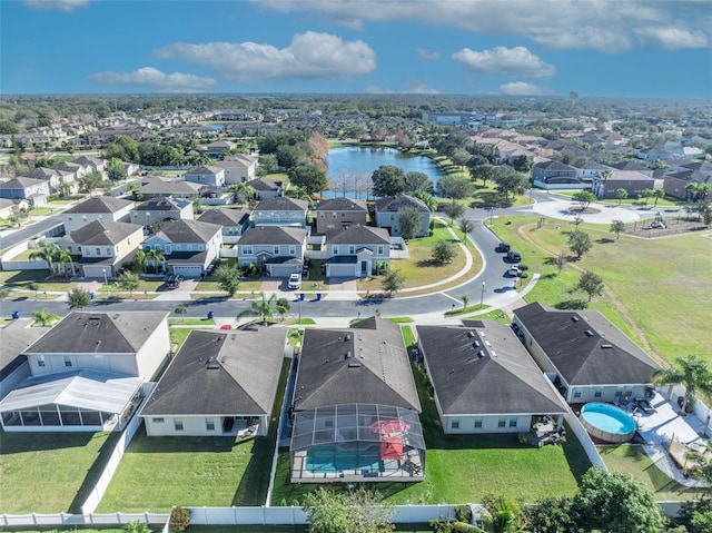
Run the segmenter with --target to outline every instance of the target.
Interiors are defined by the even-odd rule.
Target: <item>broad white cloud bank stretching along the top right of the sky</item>
[[[261,9],[323,13],[332,22],[417,21],[485,34],[526,37],[552,48],[620,53],[636,46],[699,48],[712,43],[709,0],[250,0]],[[435,8],[436,6],[436,8]],[[360,21],[360,23],[359,23]],[[646,34],[655,30],[657,38]],[[642,30],[642,31],[641,31]],[[685,37],[686,34],[686,37]]]

